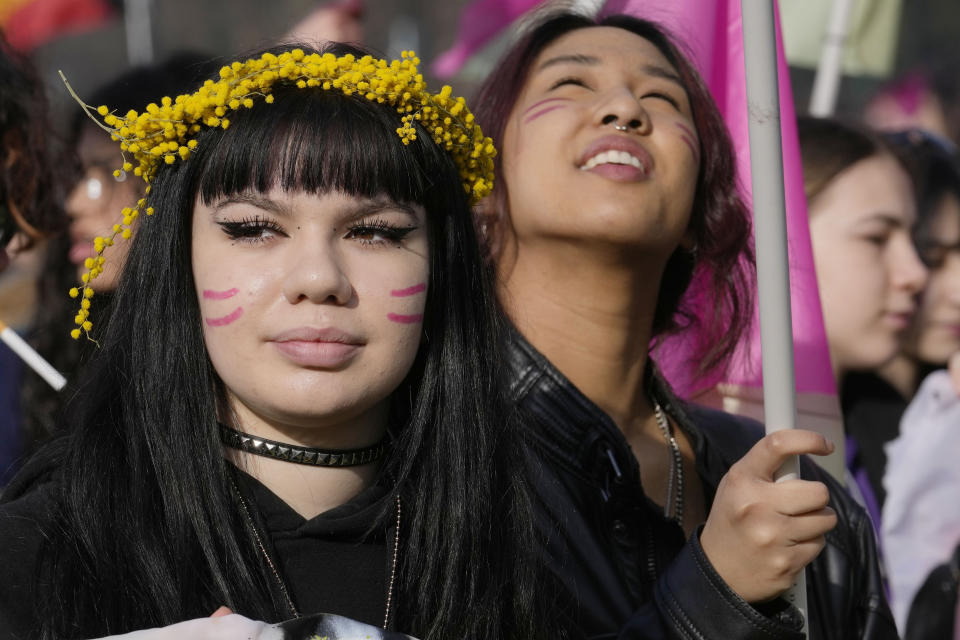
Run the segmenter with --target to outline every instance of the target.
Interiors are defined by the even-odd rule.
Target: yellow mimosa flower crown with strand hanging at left
[[[125,115],[111,113],[106,106],[92,107],[80,100],[67,85],[71,95],[87,114],[115,141],[120,142],[123,166],[121,171],[133,171],[147,183],[156,176],[162,164],[173,164],[178,159],[186,160],[197,146],[193,137],[204,127],[230,126],[228,114],[241,108],[250,108],[257,99],[270,104],[274,100],[271,90],[274,84],[294,85],[301,89],[318,87],[324,90],[341,91],[345,95],[359,95],[367,100],[395,107],[401,114],[397,135],[404,144],[416,140],[414,122],[419,122],[433,140],[447,150],[460,170],[463,188],[472,204],[486,196],[493,188],[493,158],[496,149],[493,141],[485,137],[474,122],[473,114],[463,98],[450,95],[451,88],[444,86],[440,93],[427,91],[423,76],[418,73],[420,59],[413,52],[404,51],[399,60],[381,60],[372,56],[357,59],[352,54],[340,57],[332,53],[304,53],[293,49],[279,55],[265,53],[260,58],[234,62],[220,70],[220,79],[207,80],[202,87],[189,95],[176,99],[165,97],[160,104],[148,104],[145,111],[128,111]],[[94,111],[102,118],[94,115]],[[127,153],[137,162],[134,167],[127,160]],[[104,250],[114,243],[119,235],[129,238],[131,225],[141,212],[153,214],[153,207],[146,206],[141,198],[133,207],[123,209],[123,220],[113,225],[109,235],[94,238],[96,257],[87,258],[87,272],[81,276],[82,286],[70,290],[71,297],[81,297],[80,309],[74,321],[77,325],[70,335],[79,338],[89,334],[90,298],[93,289],[90,281],[103,273]]]

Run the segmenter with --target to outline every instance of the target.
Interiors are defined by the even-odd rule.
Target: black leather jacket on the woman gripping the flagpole
[[[762,610],[737,596],[707,560],[699,533],[644,495],[625,438],[519,334],[507,348],[512,396],[538,458],[537,519],[559,578],[571,637],[800,640],[799,611]],[[654,366],[648,367],[653,371]],[[679,401],[656,374],[647,383],[690,438],[707,505],[720,478],[763,435],[756,422]],[[837,527],[807,569],[811,640],[896,638],[865,512],[812,462],[802,475],[830,488]]]

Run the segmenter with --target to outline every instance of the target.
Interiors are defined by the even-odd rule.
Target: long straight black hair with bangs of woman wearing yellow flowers
[[[427,212],[424,335],[393,395],[395,437],[381,469],[408,514],[397,628],[424,639],[554,636],[525,446],[495,375],[503,322],[457,168],[423,130],[403,145],[387,105],[320,89],[274,94],[228,129],[200,133],[195,155],[153,183],[156,214],[134,236],[102,348],[67,411],[75,423],[45,452],[63,508],[40,577],[43,637],[165,626],[222,604],[282,619],[230,490],[217,436],[223,385],[190,259],[197,197],[273,186],[386,194]],[[383,504],[381,522],[392,515],[392,501]]]

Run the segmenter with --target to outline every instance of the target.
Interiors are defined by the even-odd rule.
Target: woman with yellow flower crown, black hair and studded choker
[[[72,292],[100,349],[67,435],[3,496],[0,637],[221,606],[555,637],[468,208],[493,148],[415,59],[362,55],[268,51],[143,113],[89,108],[148,194],[96,240],[138,221],[109,322],[102,256]]]

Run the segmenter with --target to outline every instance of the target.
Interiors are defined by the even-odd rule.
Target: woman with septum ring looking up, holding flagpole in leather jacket
[[[896,637],[863,511],[806,459],[809,480],[774,482],[832,445],[687,404],[651,358],[712,316],[695,366],[721,366],[752,308],[732,145],[684,55],[643,20],[550,15],[495,67],[477,117],[501,148],[479,215],[516,327],[513,398],[580,631],[799,638],[778,596],[806,566],[811,638]]]

